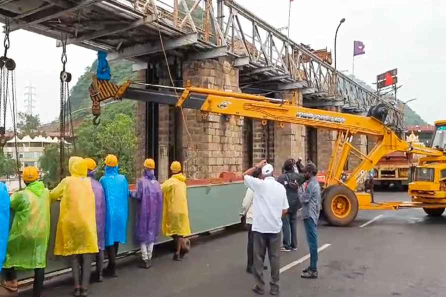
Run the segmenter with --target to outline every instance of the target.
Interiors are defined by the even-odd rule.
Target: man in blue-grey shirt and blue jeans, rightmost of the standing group
[[[300,274],[303,278],[317,278],[317,219],[320,211],[320,186],[316,174],[316,165],[306,164],[303,168],[303,175],[307,180],[306,188],[305,191],[298,193],[310,253],[310,265]]]

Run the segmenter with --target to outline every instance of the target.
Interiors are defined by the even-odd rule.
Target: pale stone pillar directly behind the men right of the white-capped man
[[[297,97],[296,104],[302,105],[302,94],[298,90],[283,92],[283,98],[291,101],[294,95]],[[276,174],[281,173],[283,162],[288,158],[305,157],[305,126],[284,123],[280,128],[279,123],[274,123],[274,170]]]

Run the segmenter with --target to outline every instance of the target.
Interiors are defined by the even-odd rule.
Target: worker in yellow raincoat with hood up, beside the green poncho
[[[70,157],[68,169],[71,176],[50,192],[51,199],[61,198],[54,254],[71,256],[74,296],[86,296],[91,262],[98,252],[94,193],[83,158]]]

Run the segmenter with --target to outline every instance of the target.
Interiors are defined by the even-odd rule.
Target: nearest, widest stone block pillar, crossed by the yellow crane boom
[[[186,61],[183,81],[191,85],[227,91],[239,91],[238,69],[231,59]],[[206,120],[199,110],[183,108],[184,171],[189,178],[218,177],[223,171],[241,174],[243,168],[243,118],[209,114]],[[187,130],[189,133],[187,133]]]

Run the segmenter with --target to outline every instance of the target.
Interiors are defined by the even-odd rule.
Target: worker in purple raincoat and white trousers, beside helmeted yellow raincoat
[[[135,235],[141,245],[141,268],[150,268],[155,242],[161,227],[162,192],[154,175],[153,159],[144,161],[142,177],[138,179],[136,191],[132,197],[136,199]]]

